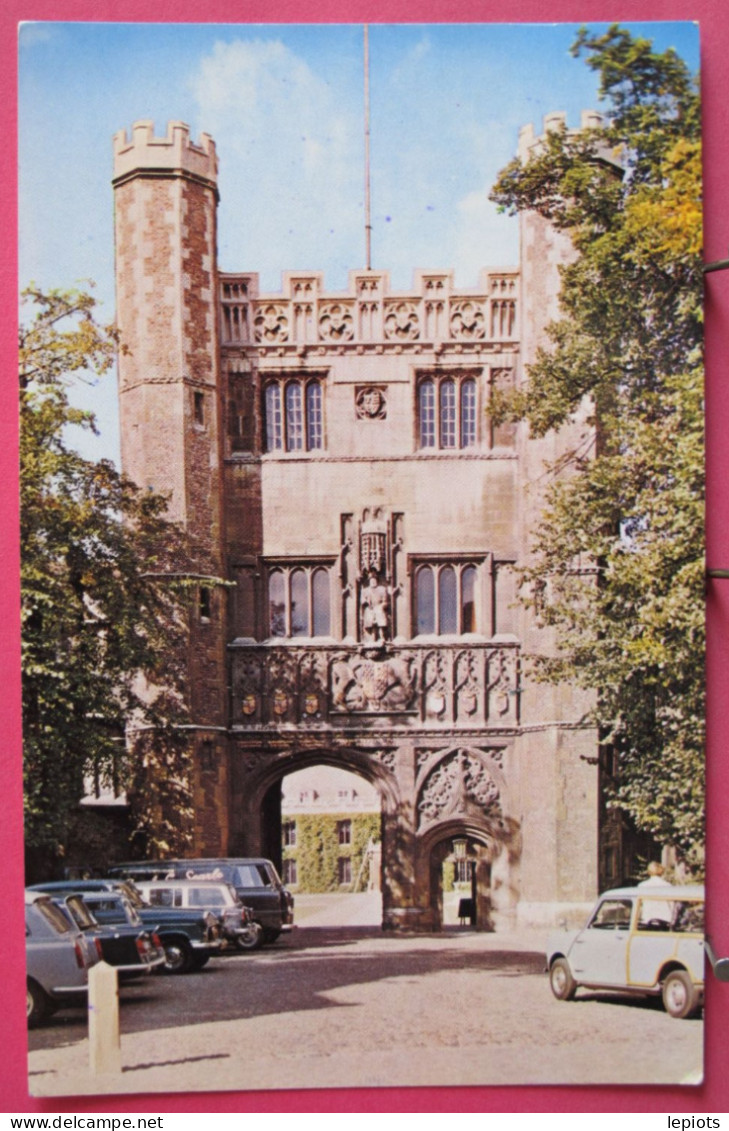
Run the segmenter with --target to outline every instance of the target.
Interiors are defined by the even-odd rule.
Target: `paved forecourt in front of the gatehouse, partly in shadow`
[[[83,1011],[58,1015],[31,1034],[32,1094],[701,1079],[700,1020],[555,1001],[539,932],[393,938],[322,923],[337,912],[320,897],[297,912],[272,948],[123,986],[120,1076],[92,1078]]]

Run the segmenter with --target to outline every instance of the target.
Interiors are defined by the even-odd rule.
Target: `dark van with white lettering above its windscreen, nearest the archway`
[[[294,925],[294,897],[270,860],[228,856],[206,860],[132,861],[111,867],[110,875],[130,880],[217,880],[229,883],[262,927],[263,942],[275,942]]]

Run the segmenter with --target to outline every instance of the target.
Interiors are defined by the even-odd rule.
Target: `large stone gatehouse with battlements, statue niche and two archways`
[[[123,469],[201,547],[192,853],[280,862],[281,779],[326,763],[381,795],[385,927],[440,925],[454,840],[479,926],[589,900],[597,736],[581,694],[529,679],[554,641],[513,571],[545,461],[587,425],[533,440],[488,416],[557,314],[566,238],[522,216],[519,267],[476,288],[420,270],[393,293],[368,269],[346,293],[296,271],[262,294],[218,269],[207,135],[122,130],[113,183]]]

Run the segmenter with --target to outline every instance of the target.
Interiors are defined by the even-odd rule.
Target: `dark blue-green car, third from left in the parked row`
[[[85,896],[109,897],[101,901],[102,917],[107,924],[127,922],[128,909],[124,904],[132,906],[142,927],[158,936],[164,951],[162,969],[166,974],[189,974],[192,970],[200,970],[211,956],[220,951],[220,920],[210,910],[148,907],[142,903],[136,888],[129,888],[119,880],[60,880],[47,887],[54,895],[60,895],[63,890],[76,891],[79,883],[85,889]],[[113,898],[116,893],[124,897],[123,903]]]

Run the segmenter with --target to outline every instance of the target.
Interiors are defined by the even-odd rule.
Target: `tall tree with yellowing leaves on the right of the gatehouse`
[[[576,252],[548,346],[496,412],[544,435],[588,404],[595,425],[589,457],[571,451],[549,469],[522,593],[558,641],[556,656],[536,658],[539,675],[596,692],[593,720],[616,754],[613,804],[700,856],[700,102],[672,50],[617,25],[583,28],[573,53],[599,76],[602,127],[548,135],[492,195],[547,217]]]

